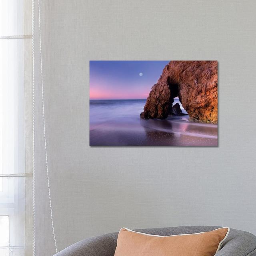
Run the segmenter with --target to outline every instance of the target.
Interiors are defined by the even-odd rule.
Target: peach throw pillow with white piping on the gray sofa
[[[229,228],[174,236],[144,234],[121,228],[114,256],[214,256]]]

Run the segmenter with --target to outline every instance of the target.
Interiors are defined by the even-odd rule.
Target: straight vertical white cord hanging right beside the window
[[[34,83],[34,27],[35,27],[35,2],[32,0],[32,130],[33,130],[33,256],[36,256],[36,230],[35,230],[35,83]]]

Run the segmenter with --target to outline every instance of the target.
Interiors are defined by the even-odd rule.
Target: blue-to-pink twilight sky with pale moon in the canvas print
[[[168,61],[90,61],[90,100],[146,99]]]

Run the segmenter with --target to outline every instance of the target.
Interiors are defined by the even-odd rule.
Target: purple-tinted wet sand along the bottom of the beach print
[[[93,125],[90,146],[218,146],[217,124],[191,122],[188,115],[129,119]]]

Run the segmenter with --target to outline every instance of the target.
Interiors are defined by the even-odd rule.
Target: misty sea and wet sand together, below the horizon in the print
[[[188,115],[142,120],[145,102],[90,100],[90,146],[218,146],[217,124],[191,122]]]

